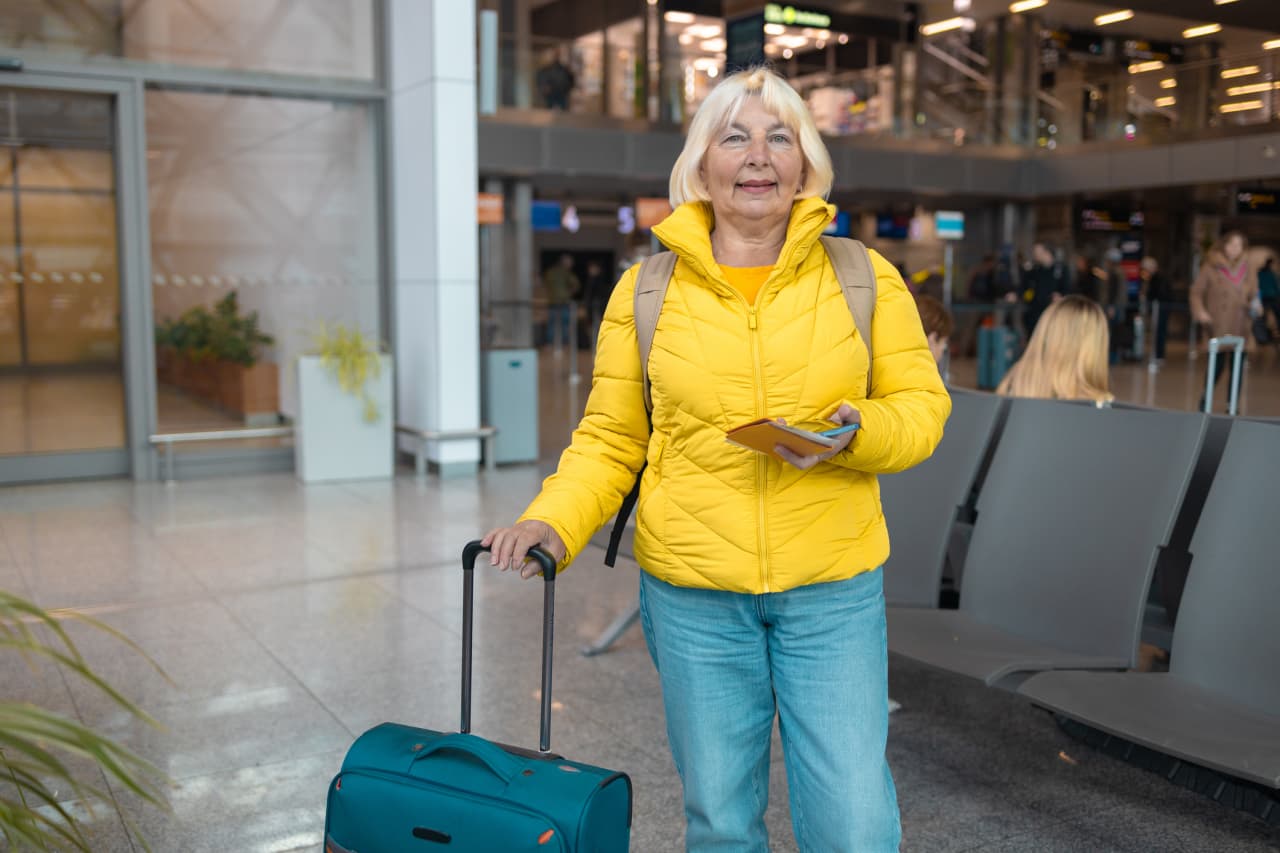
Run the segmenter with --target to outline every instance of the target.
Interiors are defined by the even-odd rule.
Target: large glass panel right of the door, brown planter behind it
[[[159,429],[293,418],[321,324],[383,336],[372,111],[152,90],[146,114]],[[212,364],[246,346],[251,370]]]

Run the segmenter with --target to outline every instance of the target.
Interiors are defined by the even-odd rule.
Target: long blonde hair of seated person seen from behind
[[[996,393],[1110,402],[1107,316],[1093,300],[1068,296],[1041,315],[1027,352]]]

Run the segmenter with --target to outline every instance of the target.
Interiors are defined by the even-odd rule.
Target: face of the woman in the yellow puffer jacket
[[[787,219],[804,184],[804,154],[795,131],[749,97],[712,137],[699,175],[717,220]]]

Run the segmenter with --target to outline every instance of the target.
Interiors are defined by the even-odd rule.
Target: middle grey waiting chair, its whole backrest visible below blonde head
[[[988,685],[1133,666],[1157,548],[1206,423],[1011,401],[978,494],[960,608],[890,608],[890,651]]]

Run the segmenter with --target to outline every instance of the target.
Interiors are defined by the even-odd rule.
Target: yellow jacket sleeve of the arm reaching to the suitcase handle
[[[622,275],[604,310],[586,412],[556,473],[520,517],[545,521],[559,534],[568,548],[562,565],[617,514],[649,447],[632,305],[636,269]]]

